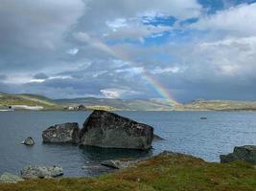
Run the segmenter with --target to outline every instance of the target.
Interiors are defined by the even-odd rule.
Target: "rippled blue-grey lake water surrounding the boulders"
[[[103,159],[143,158],[163,150],[187,153],[208,161],[219,161],[221,154],[236,145],[256,144],[256,113],[253,112],[118,112],[154,127],[164,141],[153,143],[150,152],[81,149],[72,145],[42,144],[41,132],[62,122],[83,123],[88,112],[1,112],[0,174],[29,164],[61,165],[66,176],[89,176],[84,165]],[[207,120],[200,120],[207,117]],[[35,138],[35,146],[20,144]]]

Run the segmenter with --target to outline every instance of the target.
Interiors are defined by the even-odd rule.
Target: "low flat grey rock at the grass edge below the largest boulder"
[[[123,168],[128,168],[136,163],[138,163],[139,160],[105,160],[101,164],[110,168],[115,168],[115,169],[123,169]]]

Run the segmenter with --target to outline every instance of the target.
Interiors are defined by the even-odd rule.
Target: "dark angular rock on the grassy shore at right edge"
[[[234,148],[233,153],[230,153],[228,155],[221,155],[220,158],[221,163],[231,162],[234,160],[243,160],[245,162],[256,165],[256,146],[237,146]]]

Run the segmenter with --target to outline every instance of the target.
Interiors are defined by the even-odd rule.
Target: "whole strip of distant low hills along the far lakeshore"
[[[0,93],[0,110],[107,110],[107,111],[256,111],[256,101],[204,100],[170,105],[164,99],[80,97],[51,99],[38,95]]]

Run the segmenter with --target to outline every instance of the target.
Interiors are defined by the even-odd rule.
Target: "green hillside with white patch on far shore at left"
[[[26,107],[38,107],[41,110],[62,109],[58,103],[45,96],[0,93],[0,109],[8,109],[9,106],[16,107],[17,109],[26,109]]]

